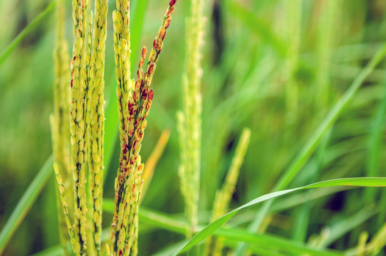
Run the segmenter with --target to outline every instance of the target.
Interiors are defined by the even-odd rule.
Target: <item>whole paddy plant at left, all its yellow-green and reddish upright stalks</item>
[[[142,49],[137,80],[131,79],[130,75],[130,1],[117,1],[117,10],[113,13],[121,152],[120,167],[115,179],[112,240],[110,246],[105,247],[104,255],[137,255],[137,212],[144,168],[139,155],[140,146],[154,95],[150,84],[175,3],[175,0],[169,2],[148,59],[147,48]],[[71,97],[68,97],[66,55],[63,53],[66,52],[66,42],[63,40],[63,3],[59,2],[57,7],[56,111],[52,117],[53,145],[56,152],[54,167],[63,206],[63,212],[60,214],[60,218],[63,219],[61,223],[66,223],[75,255],[101,253],[105,119],[103,91],[108,1],[95,1],[94,6],[95,18],[92,12],[90,14],[88,12],[88,1],[73,1]],[[147,64],[144,72],[142,66],[145,61]],[[71,120],[70,125],[66,122],[66,118]],[[66,136],[68,130],[71,137]],[[69,139],[68,142],[71,142],[70,163],[66,155],[69,145],[66,144],[66,137]],[[68,184],[71,182],[68,181],[68,169],[72,172],[71,184]],[[73,197],[66,195],[66,191],[71,188]],[[73,209],[71,212],[69,202],[72,201],[75,205],[70,208]],[[74,216],[73,224],[71,215]],[[66,234],[61,235],[64,248],[66,237]]]

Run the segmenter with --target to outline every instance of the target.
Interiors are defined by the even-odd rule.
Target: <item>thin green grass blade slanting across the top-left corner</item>
[[[6,49],[1,53],[0,55],[0,66],[4,63],[4,60],[12,53],[12,51],[16,48],[16,46],[19,45],[19,43],[30,33],[33,28],[35,28],[41,20],[43,20],[44,17],[47,16],[47,14],[51,13],[53,11],[53,7],[55,6],[55,1],[51,1],[50,4],[41,11],[38,16],[33,18],[33,20],[28,23],[28,25],[19,33],[19,35],[14,38],[14,40],[9,44],[9,46],[6,47]]]

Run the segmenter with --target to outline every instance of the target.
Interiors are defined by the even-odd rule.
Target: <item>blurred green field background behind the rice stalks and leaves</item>
[[[0,1],[0,51],[49,2]],[[167,3],[147,1],[140,46],[151,46]],[[66,37],[71,53],[71,1],[66,6]],[[113,9],[115,1],[110,1],[106,99],[116,85]],[[271,191],[328,111],[386,42],[386,1],[212,0],[205,1],[204,10],[203,224],[209,219],[214,193],[224,180],[244,127],[251,129],[251,143],[231,208]],[[161,132],[171,129],[142,206],[176,219],[184,218],[177,176],[176,112],[182,109],[184,21],[188,13],[189,1],[178,1],[152,83],[155,97],[141,151],[146,160]],[[51,11],[43,18],[0,65],[0,228],[51,154],[53,14]],[[132,49],[137,53],[139,50]],[[383,61],[365,80],[288,187],[331,178],[385,176],[385,68]],[[113,198],[119,149],[116,142],[111,164],[105,166],[105,198]],[[58,244],[55,186],[51,176],[4,255],[31,255]],[[318,199],[302,204],[311,198]],[[302,205],[293,207],[296,204]],[[327,233],[323,246],[347,250],[357,245],[362,230],[367,230],[371,239],[385,223],[386,191],[325,188],[281,198],[272,209],[267,233],[301,242],[323,241]],[[256,207],[244,210],[232,223],[245,227],[255,211]],[[103,225],[108,227],[110,222],[111,215],[105,214]],[[142,225],[140,255],[151,255],[183,238]]]

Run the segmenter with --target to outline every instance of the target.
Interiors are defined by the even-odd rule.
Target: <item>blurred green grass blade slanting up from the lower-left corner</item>
[[[48,178],[53,174],[53,156],[48,157],[46,162],[41,167],[38,174],[33,178],[33,181],[24,192],[16,208],[12,211],[11,216],[7,220],[4,228],[0,233],[0,255],[4,252],[6,244],[14,235],[16,229],[26,217],[28,210],[31,209],[33,203],[36,201],[39,193],[46,185]]]

